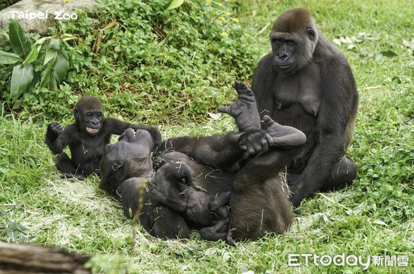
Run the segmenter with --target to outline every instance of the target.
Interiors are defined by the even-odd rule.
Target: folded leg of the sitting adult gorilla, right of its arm
[[[357,177],[357,165],[355,162],[344,156],[340,158],[331,171],[325,182],[321,187],[321,191],[335,191],[344,188],[346,185],[351,185],[353,180]]]

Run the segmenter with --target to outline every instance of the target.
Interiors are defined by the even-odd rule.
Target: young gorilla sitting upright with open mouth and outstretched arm
[[[97,97],[84,96],[75,106],[75,123],[62,130],[59,123],[50,123],[45,143],[56,156],[56,167],[66,176],[82,178],[99,175],[99,162],[112,134],[121,134],[129,127],[150,132],[155,144],[161,134],[155,127],[126,123],[115,118],[103,118],[102,103]],[[69,145],[72,158],[63,152]]]

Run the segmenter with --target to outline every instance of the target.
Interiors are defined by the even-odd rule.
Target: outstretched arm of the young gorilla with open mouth
[[[126,129],[132,128],[134,130],[137,129],[144,129],[151,134],[152,140],[154,140],[155,147],[161,143],[161,134],[157,127],[150,127],[147,125],[139,125],[139,124],[132,124],[128,122],[124,122],[115,118],[106,118],[104,120],[103,128],[109,134],[117,134],[121,135]]]

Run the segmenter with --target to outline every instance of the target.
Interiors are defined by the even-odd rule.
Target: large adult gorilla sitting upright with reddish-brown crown
[[[290,200],[297,207],[318,189],[339,189],[355,179],[357,167],[346,149],[358,93],[345,56],[322,37],[308,10],[286,10],[273,25],[270,44],[252,89],[261,115],[306,134],[287,170]]]

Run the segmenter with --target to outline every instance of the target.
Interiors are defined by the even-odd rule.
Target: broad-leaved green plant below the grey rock
[[[13,67],[10,98],[16,100],[37,83],[42,87],[57,88],[69,69],[68,55],[61,44],[76,38],[68,34],[61,38],[47,36],[32,45],[21,25],[14,19],[10,20],[8,36],[13,52],[0,50],[0,65]],[[39,65],[39,69],[34,69],[36,65]]]

